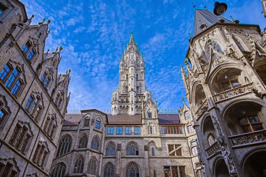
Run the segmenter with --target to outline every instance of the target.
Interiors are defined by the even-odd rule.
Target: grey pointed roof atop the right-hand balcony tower
[[[193,36],[197,35],[201,32],[200,26],[206,25],[208,28],[214,23],[217,23],[219,20],[225,20],[225,23],[232,23],[231,20],[228,20],[227,18],[216,16],[213,14],[213,12],[206,10],[206,9],[196,9],[195,10],[195,16],[194,16],[194,30],[193,30]]]

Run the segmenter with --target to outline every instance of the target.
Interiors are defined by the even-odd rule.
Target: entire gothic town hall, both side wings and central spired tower
[[[265,176],[259,26],[195,10],[181,68],[189,106],[176,113],[158,111],[131,33],[111,111],[66,114],[70,70],[57,72],[62,47],[44,51],[50,20],[32,25],[22,3],[0,2],[1,177]]]

